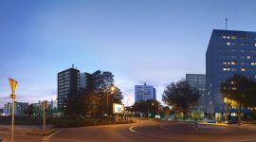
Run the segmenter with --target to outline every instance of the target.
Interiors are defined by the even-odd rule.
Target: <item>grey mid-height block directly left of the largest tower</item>
[[[200,98],[196,110],[206,112],[206,75],[205,74],[186,74],[186,81],[198,90]]]

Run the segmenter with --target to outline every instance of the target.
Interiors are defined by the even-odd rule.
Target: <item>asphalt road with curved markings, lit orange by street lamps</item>
[[[256,125],[205,125],[197,133],[193,123],[138,121],[133,124],[60,129],[49,136],[27,135],[38,128],[17,126],[15,142],[256,142]],[[9,142],[9,127],[0,136]]]

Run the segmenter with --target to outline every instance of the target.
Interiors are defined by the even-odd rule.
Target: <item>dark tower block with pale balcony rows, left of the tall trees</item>
[[[72,68],[58,73],[58,108],[63,109],[68,98],[78,94],[80,90],[80,71]]]

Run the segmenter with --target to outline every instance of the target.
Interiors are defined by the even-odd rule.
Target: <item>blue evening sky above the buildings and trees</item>
[[[57,73],[111,71],[134,102],[147,82],[161,100],[164,87],[205,73],[211,30],[256,31],[256,1],[91,0],[0,1],[0,105],[10,101],[8,78],[19,81],[17,101],[57,97]]]

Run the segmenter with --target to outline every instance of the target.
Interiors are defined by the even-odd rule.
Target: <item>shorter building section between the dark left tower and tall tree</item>
[[[80,73],[80,89],[85,91],[93,90],[93,77],[89,73]]]

